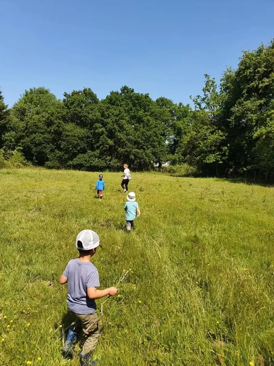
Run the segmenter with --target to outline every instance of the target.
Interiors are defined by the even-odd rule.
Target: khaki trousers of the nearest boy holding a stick
[[[82,355],[86,355],[89,352],[92,352],[98,342],[99,338],[99,325],[98,325],[98,317],[96,312],[93,314],[76,314],[73,313],[76,318],[76,326],[77,328],[81,326],[84,333],[84,344]],[[78,323],[78,324],[77,324]],[[81,323],[81,325],[79,324]],[[95,323],[94,326],[90,328],[90,325]],[[87,330],[88,329],[88,330]]]

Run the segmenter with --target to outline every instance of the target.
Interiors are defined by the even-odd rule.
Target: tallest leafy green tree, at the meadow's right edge
[[[238,68],[224,73],[221,91],[225,95],[222,123],[230,145],[228,166],[239,173],[260,169],[258,145],[254,147],[262,137],[256,132],[268,123],[263,114],[274,98],[274,41],[245,51]]]

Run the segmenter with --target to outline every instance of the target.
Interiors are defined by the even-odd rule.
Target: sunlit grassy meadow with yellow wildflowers
[[[274,365],[274,188],[133,173],[141,217],[126,235],[120,176],[104,173],[101,201],[98,173],[0,170],[0,365],[79,365],[61,356],[58,279],[86,228],[101,288],[129,270],[104,305],[102,366]]]

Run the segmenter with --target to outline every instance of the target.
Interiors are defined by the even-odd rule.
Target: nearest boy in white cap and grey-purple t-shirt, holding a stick
[[[95,299],[106,295],[114,296],[118,291],[116,287],[97,290],[97,287],[100,286],[98,270],[90,259],[96,253],[98,246],[100,246],[100,239],[96,232],[82,230],[76,238],[79,257],[68,262],[60,277],[61,285],[68,284],[66,302],[76,318],[69,328],[62,352],[65,356],[73,356],[77,333],[83,329],[84,344],[80,360],[83,366],[95,366],[99,361],[92,361],[92,352],[99,337]]]

